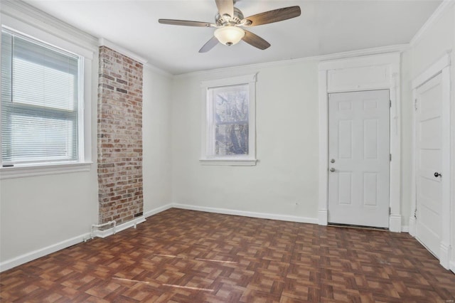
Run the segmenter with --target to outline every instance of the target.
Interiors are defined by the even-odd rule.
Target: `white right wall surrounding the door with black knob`
[[[412,43],[411,48],[402,54],[402,214],[404,221],[409,222],[411,212],[411,154],[412,147],[412,100],[411,81],[441,58],[446,50],[451,53],[451,141],[452,141],[452,194],[451,194],[451,269],[455,270],[455,6],[446,12]]]

